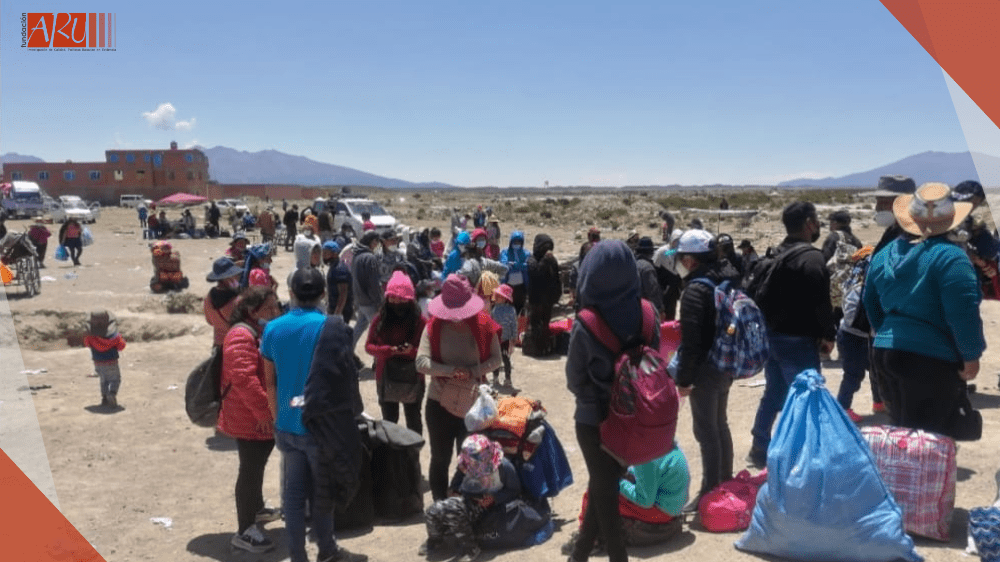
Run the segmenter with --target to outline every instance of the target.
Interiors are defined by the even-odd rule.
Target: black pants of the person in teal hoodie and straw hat
[[[949,418],[965,392],[962,363],[878,347],[872,359],[892,425],[949,434]]]

